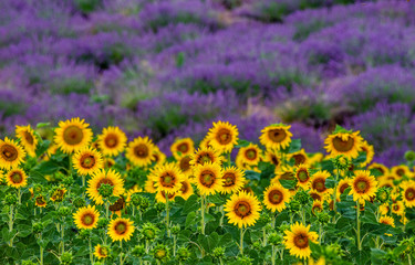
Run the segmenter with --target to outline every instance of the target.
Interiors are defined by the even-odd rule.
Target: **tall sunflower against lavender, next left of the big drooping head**
[[[267,126],[261,130],[262,135],[259,140],[267,149],[284,149],[291,142],[292,134],[289,130],[290,128],[291,125],[283,124]]]

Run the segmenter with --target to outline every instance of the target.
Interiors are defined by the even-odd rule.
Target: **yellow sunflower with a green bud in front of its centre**
[[[124,180],[120,173],[110,169],[105,171],[103,169],[96,171],[92,178],[87,181],[86,193],[90,199],[94,200],[95,204],[103,204],[102,195],[98,192],[101,184],[111,184],[113,189],[113,197],[120,197],[124,193]]]

